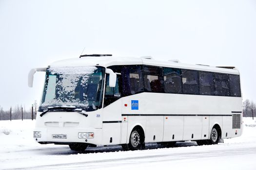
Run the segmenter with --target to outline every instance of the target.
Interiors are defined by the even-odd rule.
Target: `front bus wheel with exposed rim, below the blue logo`
[[[141,132],[140,129],[134,128],[131,132],[128,147],[131,151],[144,149],[145,143],[144,143],[144,134]]]

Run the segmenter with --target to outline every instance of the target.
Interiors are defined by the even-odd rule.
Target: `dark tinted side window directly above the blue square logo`
[[[123,66],[122,76],[122,92],[123,96],[129,96],[144,91],[142,66]]]

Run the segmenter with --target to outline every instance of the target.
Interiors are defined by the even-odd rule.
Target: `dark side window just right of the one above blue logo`
[[[144,66],[145,92],[163,93],[162,68]]]

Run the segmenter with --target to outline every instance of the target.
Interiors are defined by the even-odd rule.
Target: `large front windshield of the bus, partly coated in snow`
[[[97,110],[102,101],[102,67],[48,68],[39,111],[50,106]]]

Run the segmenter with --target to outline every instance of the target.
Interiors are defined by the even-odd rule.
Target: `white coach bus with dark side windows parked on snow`
[[[82,55],[32,69],[31,87],[36,71],[46,72],[34,131],[40,144],[138,150],[147,142],[217,144],[242,133],[234,67]]]

